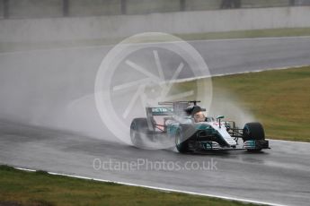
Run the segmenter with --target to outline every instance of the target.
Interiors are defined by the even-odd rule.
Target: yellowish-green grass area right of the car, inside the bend
[[[310,66],[227,75],[212,82],[213,99],[226,94],[238,99],[238,105],[264,125],[269,138],[310,142]]]

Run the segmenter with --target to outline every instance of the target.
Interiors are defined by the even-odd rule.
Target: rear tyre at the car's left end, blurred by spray
[[[143,135],[147,133],[148,124],[146,118],[136,118],[130,124],[130,139],[132,144],[137,147],[143,147]]]

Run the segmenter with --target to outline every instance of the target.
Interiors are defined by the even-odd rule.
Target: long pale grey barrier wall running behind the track
[[[310,27],[310,7],[235,9],[0,21],[0,43],[116,39],[146,32],[199,33]]]

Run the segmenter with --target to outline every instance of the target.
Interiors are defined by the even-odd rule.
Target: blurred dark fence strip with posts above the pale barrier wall
[[[310,0],[0,0],[0,18],[171,13],[292,5],[310,5]]]

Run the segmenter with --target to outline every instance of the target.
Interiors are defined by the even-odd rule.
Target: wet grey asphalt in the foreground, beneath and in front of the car
[[[173,150],[138,150],[74,133],[0,123],[3,164],[253,201],[309,205],[310,143],[271,141],[270,146],[272,150],[261,153],[238,150],[182,155]],[[110,163],[101,167],[100,161],[110,159],[111,167]],[[154,163],[163,160],[165,169],[163,164]],[[186,165],[191,164],[188,161],[196,165]],[[211,161],[213,167],[212,163],[208,167]],[[130,170],[125,165],[119,170],[122,162],[140,166]]]

